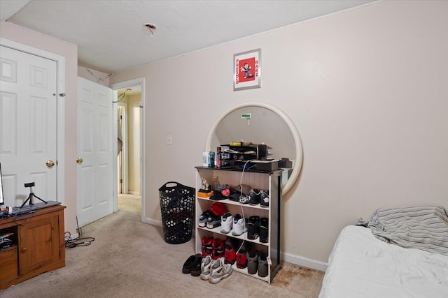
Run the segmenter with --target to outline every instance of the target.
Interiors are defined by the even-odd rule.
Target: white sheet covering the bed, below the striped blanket
[[[319,298],[447,298],[448,257],[386,244],[346,226],[328,258]]]

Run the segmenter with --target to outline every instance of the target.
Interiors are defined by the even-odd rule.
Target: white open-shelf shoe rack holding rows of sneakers
[[[257,172],[237,169],[214,168],[214,167],[195,167],[196,170],[196,191],[202,188],[202,178],[206,179],[211,185],[214,177],[218,177],[220,184],[228,184],[235,187],[239,184],[251,186],[251,188],[258,188],[260,190],[269,191],[269,206],[261,207],[260,204],[241,204],[234,200],[211,200],[210,198],[202,198],[197,196],[195,202],[195,246],[196,253],[202,253],[202,239],[203,237],[213,237],[214,239],[223,239],[225,241],[228,237],[239,239],[243,244],[251,246],[252,250],[263,252],[267,255],[268,274],[267,276],[259,276],[257,273],[250,274],[248,268],[238,268],[233,265],[233,271],[247,274],[254,278],[261,279],[267,283],[271,283],[277,271],[281,267],[280,259],[280,203],[281,203],[281,172],[282,170],[275,170],[272,172]],[[242,176],[241,176],[242,175]],[[268,218],[268,241],[266,243],[260,242],[260,237],[257,239],[248,239],[248,232],[244,232],[240,236],[234,236],[232,231],[228,234],[221,232],[221,226],[213,229],[207,227],[200,227],[198,225],[201,214],[209,209],[214,202],[221,202],[225,205],[226,211],[233,216],[241,214],[244,218],[251,216],[259,216],[260,218]],[[246,228],[248,228],[246,226]],[[238,250],[238,248],[236,248]],[[247,257],[249,257],[247,255]]]

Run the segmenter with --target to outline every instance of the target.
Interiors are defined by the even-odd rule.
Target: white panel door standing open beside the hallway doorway
[[[112,96],[112,89],[78,77],[76,214],[80,227],[113,211]]]

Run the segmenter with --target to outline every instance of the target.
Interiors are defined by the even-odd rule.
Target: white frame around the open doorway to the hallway
[[[139,77],[134,80],[128,80],[125,82],[118,82],[115,84],[111,84],[110,87],[113,90],[113,100],[116,101],[118,98],[118,90],[119,89],[125,89],[127,87],[132,87],[135,85],[141,85],[141,119],[140,119],[140,126],[141,126],[141,134],[140,134],[140,152],[141,152],[141,159],[140,159],[140,169],[141,169],[141,175],[140,175],[140,195],[141,195],[141,221],[144,221],[145,218],[145,105],[144,105],[144,98],[145,98],[145,78]],[[118,121],[118,109],[116,108],[118,105],[113,105],[113,123],[117,123]],[[113,140],[117,140],[118,138],[118,126],[113,125]],[[118,143],[113,142],[113,156],[118,156]],[[118,158],[113,158],[113,172],[118,172],[118,164],[117,164]],[[116,177],[113,179],[113,211],[118,211],[118,181]]]

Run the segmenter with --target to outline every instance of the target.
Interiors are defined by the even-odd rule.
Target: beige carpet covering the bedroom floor
[[[123,201],[125,200],[125,201]],[[66,248],[66,267],[0,291],[9,297],[318,297],[323,272],[284,262],[270,285],[233,272],[220,283],[182,274],[193,239],[167,244],[162,228],[141,223],[140,197],[82,229],[90,246]]]

